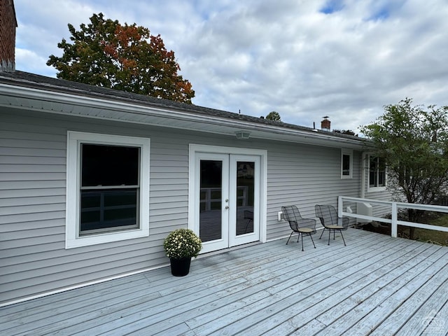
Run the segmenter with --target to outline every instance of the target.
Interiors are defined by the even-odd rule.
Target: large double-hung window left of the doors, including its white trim
[[[148,236],[149,139],[69,132],[66,247]]]

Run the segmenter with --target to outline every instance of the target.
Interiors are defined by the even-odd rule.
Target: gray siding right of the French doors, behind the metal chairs
[[[283,205],[296,205],[302,216],[316,218],[314,205],[337,207],[339,195],[360,193],[360,153],[353,153],[353,179],[341,179],[341,148],[300,144],[267,144],[267,239],[290,234],[285,221],[277,220]]]

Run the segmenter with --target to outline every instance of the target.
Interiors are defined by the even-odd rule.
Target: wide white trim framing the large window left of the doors
[[[140,151],[140,227],[134,230],[79,235],[80,144],[139,146]],[[65,248],[76,248],[149,236],[149,151],[148,138],[111,134],[67,132]]]

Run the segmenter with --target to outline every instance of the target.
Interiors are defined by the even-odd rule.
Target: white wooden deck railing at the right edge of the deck
[[[382,218],[377,216],[365,216],[362,214],[353,214],[351,212],[344,211],[344,202],[353,203],[368,203],[368,204],[379,204],[380,206],[387,206],[390,211],[388,214],[391,214],[391,219]],[[346,197],[339,196],[338,199],[338,215],[339,217],[345,216],[349,218],[360,218],[367,221],[377,221],[382,223],[391,224],[391,236],[397,237],[398,233],[398,225],[405,225],[412,228],[421,228],[428,230],[437,230],[442,232],[448,232],[448,228],[444,228],[438,225],[428,225],[423,223],[413,223],[407,221],[399,221],[398,220],[398,211],[400,209],[416,209],[416,210],[424,210],[424,211],[436,211],[436,212],[444,212],[448,214],[448,207],[443,207],[441,205],[428,205],[428,204],[413,204],[413,203],[401,203],[401,202],[388,202],[388,201],[380,201],[380,200],[369,200],[366,198],[358,198],[358,197]],[[383,211],[384,214],[384,211]],[[381,216],[381,215],[380,215]]]

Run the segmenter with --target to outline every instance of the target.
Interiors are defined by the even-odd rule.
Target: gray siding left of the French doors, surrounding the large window
[[[163,239],[188,225],[188,141],[135,125],[0,113],[1,302],[167,262]],[[151,138],[150,237],[65,249],[67,130]]]

